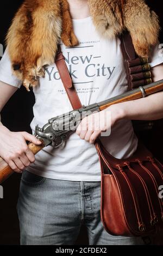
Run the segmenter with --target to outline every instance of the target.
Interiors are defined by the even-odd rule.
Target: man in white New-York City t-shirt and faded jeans
[[[60,43],[80,101],[89,105],[126,92],[120,40],[97,33],[87,0],[68,0],[68,3],[79,46],[65,47]],[[163,78],[163,57],[159,56],[158,45],[151,57],[153,80],[158,81]],[[45,78],[41,77],[40,84],[34,87],[33,131],[36,124],[43,126],[48,119],[72,109],[55,64],[45,70]],[[12,76],[7,51],[0,64],[0,81],[2,109],[22,84]],[[135,152],[137,138],[130,120],[163,118],[162,99],[160,92],[106,109],[111,113],[111,135],[101,140],[111,155],[122,159]],[[34,136],[11,132],[0,125],[0,155],[15,172],[24,170],[17,205],[22,245],[72,245],[82,223],[87,227],[90,245],[143,244],[141,237],[112,236],[103,228],[101,173],[93,143],[109,127],[102,119],[103,127],[98,125],[99,115],[85,118],[60,148],[47,147],[36,156],[26,144],[26,140],[39,144]]]

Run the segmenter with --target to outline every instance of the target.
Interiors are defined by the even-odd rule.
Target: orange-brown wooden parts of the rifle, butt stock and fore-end
[[[163,90],[163,80],[148,84],[147,86],[143,86],[141,87],[141,89],[143,90],[146,96],[160,92],[161,90]],[[130,92],[118,95],[117,97],[112,97],[109,100],[99,102],[98,106],[100,111],[104,110],[105,108],[108,108],[113,104],[140,99],[143,96],[141,89],[137,88],[137,89],[131,90]],[[37,154],[41,149],[45,147],[43,145],[43,141],[42,141],[42,145],[35,145],[33,143],[30,143],[28,146],[34,154]],[[0,184],[3,181],[5,181],[12,173],[14,173],[13,170],[8,166],[7,162],[5,162],[0,157]]]

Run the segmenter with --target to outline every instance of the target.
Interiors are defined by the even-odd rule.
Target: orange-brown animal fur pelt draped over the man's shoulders
[[[96,29],[113,38],[128,29],[136,53],[147,57],[159,33],[158,16],[144,0],[88,0]],[[9,28],[6,44],[14,75],[29,90],[45,66],[54,63],[57,45],[78,45],[67,0],[25,0]]]

